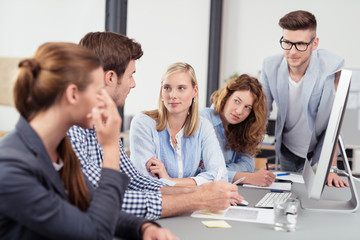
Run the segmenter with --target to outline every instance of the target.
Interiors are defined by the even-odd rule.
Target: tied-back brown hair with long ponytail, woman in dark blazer
[[[31,121],[37,113],[51,107],[69,84],[80,91],[91,83],[90,72],[101,66],[100,60],[89,50],[72,43],[45,43],[33,58],[19,63],[20,72],[14,86],[17,110]],[[64,162],[59,172],[70,203],[81,210],[90,204],[88,189],[79,160],[67,136],[58,146]]]

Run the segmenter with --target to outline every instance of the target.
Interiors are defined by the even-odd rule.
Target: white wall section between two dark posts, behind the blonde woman
[[[127,35],[144,55],[137,63],[125,115],[158,106],[161,76],[174,62],[193,66],[199,84],[199,104],[206,104],[210,0],[129,0]]]

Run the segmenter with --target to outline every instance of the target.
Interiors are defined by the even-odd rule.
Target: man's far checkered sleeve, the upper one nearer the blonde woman
[[[138,191],[159,191],[159,189],[164,186],[164,184],[156,179],[151,179],[142,175],[130,161],[121,143],[121,140],[119,143],[121,154],[120,171],[126,173],[131,178],[129,189]]]

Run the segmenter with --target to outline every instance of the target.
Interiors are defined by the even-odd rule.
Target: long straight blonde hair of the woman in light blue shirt
[[[194,88],[197,86],[197,79],[195,75],[195,71],[190,64],[177,62],[171,64],[166,72],[163,74],[161,78],[161,86],[163,82],[172,74],[178,72],[186,72],[189,74],[191,78],[191,85]],[[143,113],[150,116],[152,119],[156,121],[156,130],[162,131],[166,128],[167,124],[167,109],[162,101],[162,88],[160,88],[159,94],[159,108],[152,111],[144,111]],[[193,99],[193,102],[189,108],[189,114],[184,123],[184,136],[191,137],[199,128],[199,103],[198,103],[198,95],[196,95]]]

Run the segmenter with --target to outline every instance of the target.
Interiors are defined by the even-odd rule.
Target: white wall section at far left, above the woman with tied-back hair
[[[0,57],[30,57],[44,42],[78,43],[87,32],[104,30],[105,0],[0,1]],[[17,119],[14,108],[0,106],[0,131],[13,129]]]

